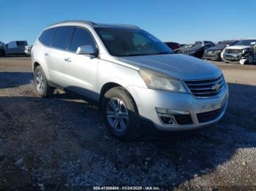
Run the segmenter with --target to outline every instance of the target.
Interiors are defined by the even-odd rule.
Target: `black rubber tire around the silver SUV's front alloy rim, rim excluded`
[[[127,125],[126,130],[123,132],[117,132],[114,130],[111,125],[108,122],[108,118],[106,115],[106,109],[108,106],[108,102],[111,98],[119,98],[121,101],[124,102],[124,105],[127,107],[128,115],[129,115],[129,122]],[[130,140],[135,139],[139,136],[140,132],[138,132],[138,112],[135,105],[135,102],[132,100],[131,95],[124,90],[122,87],[113,87],[112,89],[108,90],[107,93],[105,93],[105,96],[102,101],[102,117],[105,120],[105,125],[107,126],[110,133],[117,137],[118,139],[123,140]]]

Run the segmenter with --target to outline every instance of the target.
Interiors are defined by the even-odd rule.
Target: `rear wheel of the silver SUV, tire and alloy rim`
[[[42,71],[41,66],[37,66],[34,70],[34,84],[36,86],[37,93],[41,97],[49,97],[53,95],[54,88],[48,85],[45,73]]]

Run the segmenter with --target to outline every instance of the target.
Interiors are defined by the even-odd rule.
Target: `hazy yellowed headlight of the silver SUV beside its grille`
[[[153,71],[140,70],[139,73],[147,87],[150,89],[188,93],[184,82],[178,79],[172,79],[165,76],[165,74],[159,74]]]

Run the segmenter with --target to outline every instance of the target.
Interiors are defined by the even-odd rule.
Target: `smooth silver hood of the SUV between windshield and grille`
[[[181,54],[129,56],[116,59],[140,69],[157,71],[183,80],[213,78],[222,74],[214,64]]]

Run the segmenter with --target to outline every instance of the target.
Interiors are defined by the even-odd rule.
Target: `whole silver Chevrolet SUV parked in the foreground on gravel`
[[[39,95],[61,88],[97,101],[119,139],[203,128],[227,107],[227,84],[217,66],[173,54],[137,26],[56,23],[39,35],[31,58]]]

